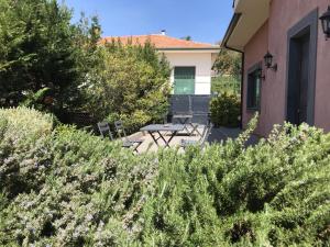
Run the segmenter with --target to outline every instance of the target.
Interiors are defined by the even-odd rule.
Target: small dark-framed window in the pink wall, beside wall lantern
[[[252,70],[248,76],[248,109],[260,110],[261,101],[261,69]]]

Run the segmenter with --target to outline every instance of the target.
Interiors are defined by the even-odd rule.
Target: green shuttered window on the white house
[[[174,68],[174,94],[195,94],[195,67]]]

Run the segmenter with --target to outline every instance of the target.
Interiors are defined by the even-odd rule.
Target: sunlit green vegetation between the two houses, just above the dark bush
[[[233,76],[217,76],[211,81],[211,92],[213,94],[241,94],[241,82]]]

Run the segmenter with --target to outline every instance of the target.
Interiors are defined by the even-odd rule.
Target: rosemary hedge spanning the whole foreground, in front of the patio
[[[253,120],[204,151],[134,156],[74,127],[50,131],[52,117],[32,110],[0,114],[1,246],[330,244],[330,135],[317,128],[275,126],[244,148]]]

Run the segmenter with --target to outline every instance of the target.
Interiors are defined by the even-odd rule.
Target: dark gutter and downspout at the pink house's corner
[[[221,46],[223,46],[227,49],[240,53],[242,55],[242,57],[241,57],[241,68],[242,68],[242,71],[241,71],[241,123],[240,123],[240,127],[243,128],[243,90],[244,90],[244,61],[245,61],[245,54],[244,54],[244,52],[239,50],[239,49],[233,48],[233,47],[230,47],[227,44],[229,37],[231,36],[232,32],[234,31],[234,29],[235,29],[235,26],[238,24],[241,15],[242,15],[241,13],[234,13],[234,15],[232,16],[232,20],[231,20],[230,25],[229,25],[229,27],[227,30],[227,33],[224,35],[224,38],[223,38],[223,42],[222,42]]]

